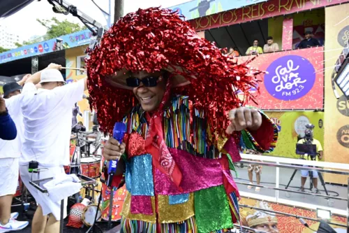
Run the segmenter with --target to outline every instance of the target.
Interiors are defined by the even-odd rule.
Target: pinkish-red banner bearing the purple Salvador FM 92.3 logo
[[[267,73],[258,77],[262,81],[260,94],[254,94],[258,105],[248,104],[264,110],[322,109],[322,51],[319,47],[259,55],[249,65]],[[251,57],[238,59],[243,62]]]

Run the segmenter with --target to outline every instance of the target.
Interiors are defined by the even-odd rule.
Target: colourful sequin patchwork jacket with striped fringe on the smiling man
[[[239,218],[239,192],[232,179],[232,162],[241,159],[239,147],[260,152],[273,150],[277,127],[262,114],[257,132],[241,133],[216,145],[203,113],[192,109],[188,97],[177,96],[163,114],[164,140],[181,170],[181,190],[154,167],[144,150],[148,123],[140,106],[124,118],[128,135],[121,232],[225,232]],[[120,177],[114,178],[118,185]]]

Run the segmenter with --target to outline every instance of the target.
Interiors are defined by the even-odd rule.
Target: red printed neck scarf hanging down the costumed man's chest
[[[170,78],[168,78],[165,94],[158,109],[152,116],[145,112],[145,118],[149,122],[148,133],[145,138],[145,150],[153,157],[153,166],[163,174],[168,175],[171,181],[180,189],[181,171],[163,140],[163,110],[165,104],[170,100],[170,89]]]

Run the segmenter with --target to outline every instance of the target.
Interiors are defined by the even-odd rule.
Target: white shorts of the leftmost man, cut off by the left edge
[[[0,197],[16,193],[19,167],[17,157],[0,159]]]

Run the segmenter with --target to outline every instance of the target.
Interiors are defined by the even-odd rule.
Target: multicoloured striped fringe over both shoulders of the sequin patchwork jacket
[[[207,120],[203,111],[192,109],[188,97],[177,96],[171,100],[171,106],[163,113],[163,132],[165,143],[169,148],[186,150],[192,155],[218,158],[219,151],[207,143]],[[138,132],[144,138],[147,134],[148,124],[144,118],[144,111],[140,106],[135,106],[131,113],[126,115],[123,122],[127,132]]]

